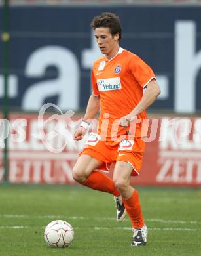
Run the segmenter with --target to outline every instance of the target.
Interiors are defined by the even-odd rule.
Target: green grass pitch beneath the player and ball
[[[117,223],[111,195],[78,186],[0,186],[0,255],[201,255],[201,188],[137,188],[147,245],[130,247],[130,221]],[[48,247],[46,224],[69,222],[73,243]]]

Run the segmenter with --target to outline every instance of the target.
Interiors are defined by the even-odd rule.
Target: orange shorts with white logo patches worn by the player
[[[90,133],[79,156],[86,154],[103,162],[99,167],[101,171],[109,171],[109,166],[116,161],[126,161],[133,167],[131,175],[137,176],[141,170],[144,151],[145,142],[141,138],[124,139],[121,142],[101,141],[100,135]]]

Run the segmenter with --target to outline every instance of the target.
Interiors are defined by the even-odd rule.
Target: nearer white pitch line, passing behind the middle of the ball
[[[31,229],[31,228],[37,228],[37,229],[45,229],[45,226],[0,226],[0,229]],[[80,229],[79,227],[74,228],[74,230]],[[86,228],[85,228],[86,229]],[[94,228],[88,228],[92,230],[131,230],[130,227],[111,227],[107,228],[104,226],[95,226]],[[198,229],[195,228],[149,228],[149,230],[157,230],[157,231],[198,231]]]

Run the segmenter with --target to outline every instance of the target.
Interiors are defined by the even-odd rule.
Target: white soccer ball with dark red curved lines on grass
[[[68,247],[73,241],[73,228],[67,221],[56,220],[50,222],[44,232],[45,242],[56,248]]]

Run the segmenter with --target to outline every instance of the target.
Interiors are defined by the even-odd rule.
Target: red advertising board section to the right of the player
[[[147,142],[141,175],[132,183],[201,186],[201,119],[160,117],[156,138]]]

